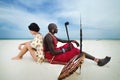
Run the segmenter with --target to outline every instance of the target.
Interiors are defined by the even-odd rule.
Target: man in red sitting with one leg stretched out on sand
[[[75,43],[77,46],[79,46],[79,43],[77,41],[61,40],[54,35],[58,32],[56,24],[50,23],[48,25],[48,30],[49,32],[46,34],[43,40],[45,58],[48,62],[51,64],[66,64],[75,55],[80,54],[80,50],[78,48],[75,48],[72,44]],[[66,44],[57,48],[58,41]],[[111,57],[108,56],[106,56],[104,59],[98,59],[90,54],[87,54],[86,52],[83,53],[85,54],[85,58],[95,61],[98,66],[104,66],[111,59]]]

